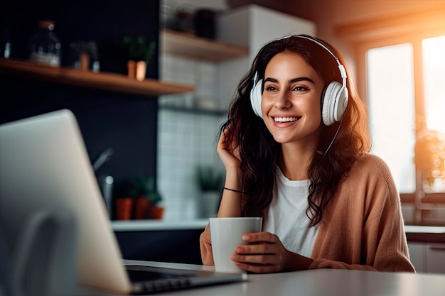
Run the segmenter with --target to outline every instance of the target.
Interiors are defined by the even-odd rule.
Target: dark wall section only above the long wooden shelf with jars
[[[94,40],[105,72],[126,71],[125,35],[159,39],[159,1],[7,1],[0,6],[0,18],[3,37],[11,40],[11,57],[28,58],[29,40],[38,30],[38,21],[50,19],[55,21],[54,33],[62,43],[63,65],[68,65],[70,43]],[[157,58],[152,60],[147,77],[158,77]]]

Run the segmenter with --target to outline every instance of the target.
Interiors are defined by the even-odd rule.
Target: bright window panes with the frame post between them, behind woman
[[[417,139],[430,131],[445,132],[444,51],[445,35],[370,48],[365,53],[371,152],[390,166],[401,193],[414,193],[419,186],[425,192],[445,192],[441,178],[431,178],[430,183],[421,178],[418,185],[417,174],[422,172],[414,163]],[[439,168],[444,165],[443,158],[437,161]],[[444,170],[434,173],[441,175]]]

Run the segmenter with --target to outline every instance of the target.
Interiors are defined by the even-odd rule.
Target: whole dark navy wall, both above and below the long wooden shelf
[[[95,40],[100,68],[126,73],[124,35],[144,35],[156,40],[159,52],[159,1],[7,1],[1,4],[3,37],[11,40],[11,57],[28,59],[28,40],[39,19],[55,21],[62,43],[62,64],[68,65],[72,41]],[[1,33],[0,32],[0,33]],[[158,78],[158,55],[146,77]],[[124,194],[124,184],[136,175],[156,177],[157,98],[70,87],[0,74],[0,123],[68,108],[79,121],[92,162],[107,148],[114,155],[97,172],[111,174],[114,195]]]

